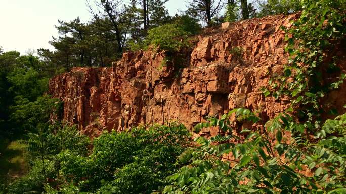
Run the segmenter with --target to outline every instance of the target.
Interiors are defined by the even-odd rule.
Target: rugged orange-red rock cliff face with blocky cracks
[[[288,107],[288,99],[264,97],[260,88],[267,86],[269,73],[283,71],[287,55],[280,26],[290,27],[297,17],[223,25],[199,37],[180,69],[165,52],[152,51],[124,53],[112,68],[73,68],[50,80],[49,93],[65,102],[63,119],[91,136],[172,120],[192,127],[208,115],[238,107],[257,110],[266,121]],[[242,48],[242,56],[232,54],[235,47]],[[343,102],[346,98],[338,104]]]

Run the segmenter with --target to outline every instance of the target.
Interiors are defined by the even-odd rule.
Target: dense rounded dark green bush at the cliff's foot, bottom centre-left
[[[90,156],[60,154],[61,172],[81,191],[151,193],[176,171],[176,157],[188,138],[188,130],[178,124],[105,133],[94,139]]]

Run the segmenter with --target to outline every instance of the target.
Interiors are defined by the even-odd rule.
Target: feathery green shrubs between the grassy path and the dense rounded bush
[[[75,126],[53,123],[39,126],[38,133],[28,133],[21,143],[30,159],[31,170],[9,185],[9,193],[41,193],[45,184],[56,186],[60,182],[60,161],[57,155],[69,150],[75,155],[88,153],[89,138],[81,135]]]

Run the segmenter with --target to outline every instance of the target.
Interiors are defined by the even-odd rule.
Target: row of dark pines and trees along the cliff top
[[[77,17],[59,20],[59,36],[49,42],[55,49],[38,49],[45,63],[68,71],[75,66],[109,66],[127,50],[135,50],[147,39],[150,29],[165,25],[211,27],[222,22],[289,14],[301,9],[299,0],[188,0],[186,11],[170,16],[168,0],[99,0],[86,2],[93,18],[82,23]],[[184,29],[190,34],[198,28]]]

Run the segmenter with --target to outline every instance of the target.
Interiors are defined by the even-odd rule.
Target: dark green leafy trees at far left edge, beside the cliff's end
[[[37,97],[47,91],[48,79],[53,74],[52,67],[35,56],[20,56],[15,51],[0,54],[2,134],[11,135],[31,130],[37,121],[48,121],[48,110],[54,110],[53,103],[57,100]],[[45,108],[47,111],[41,112]]]

